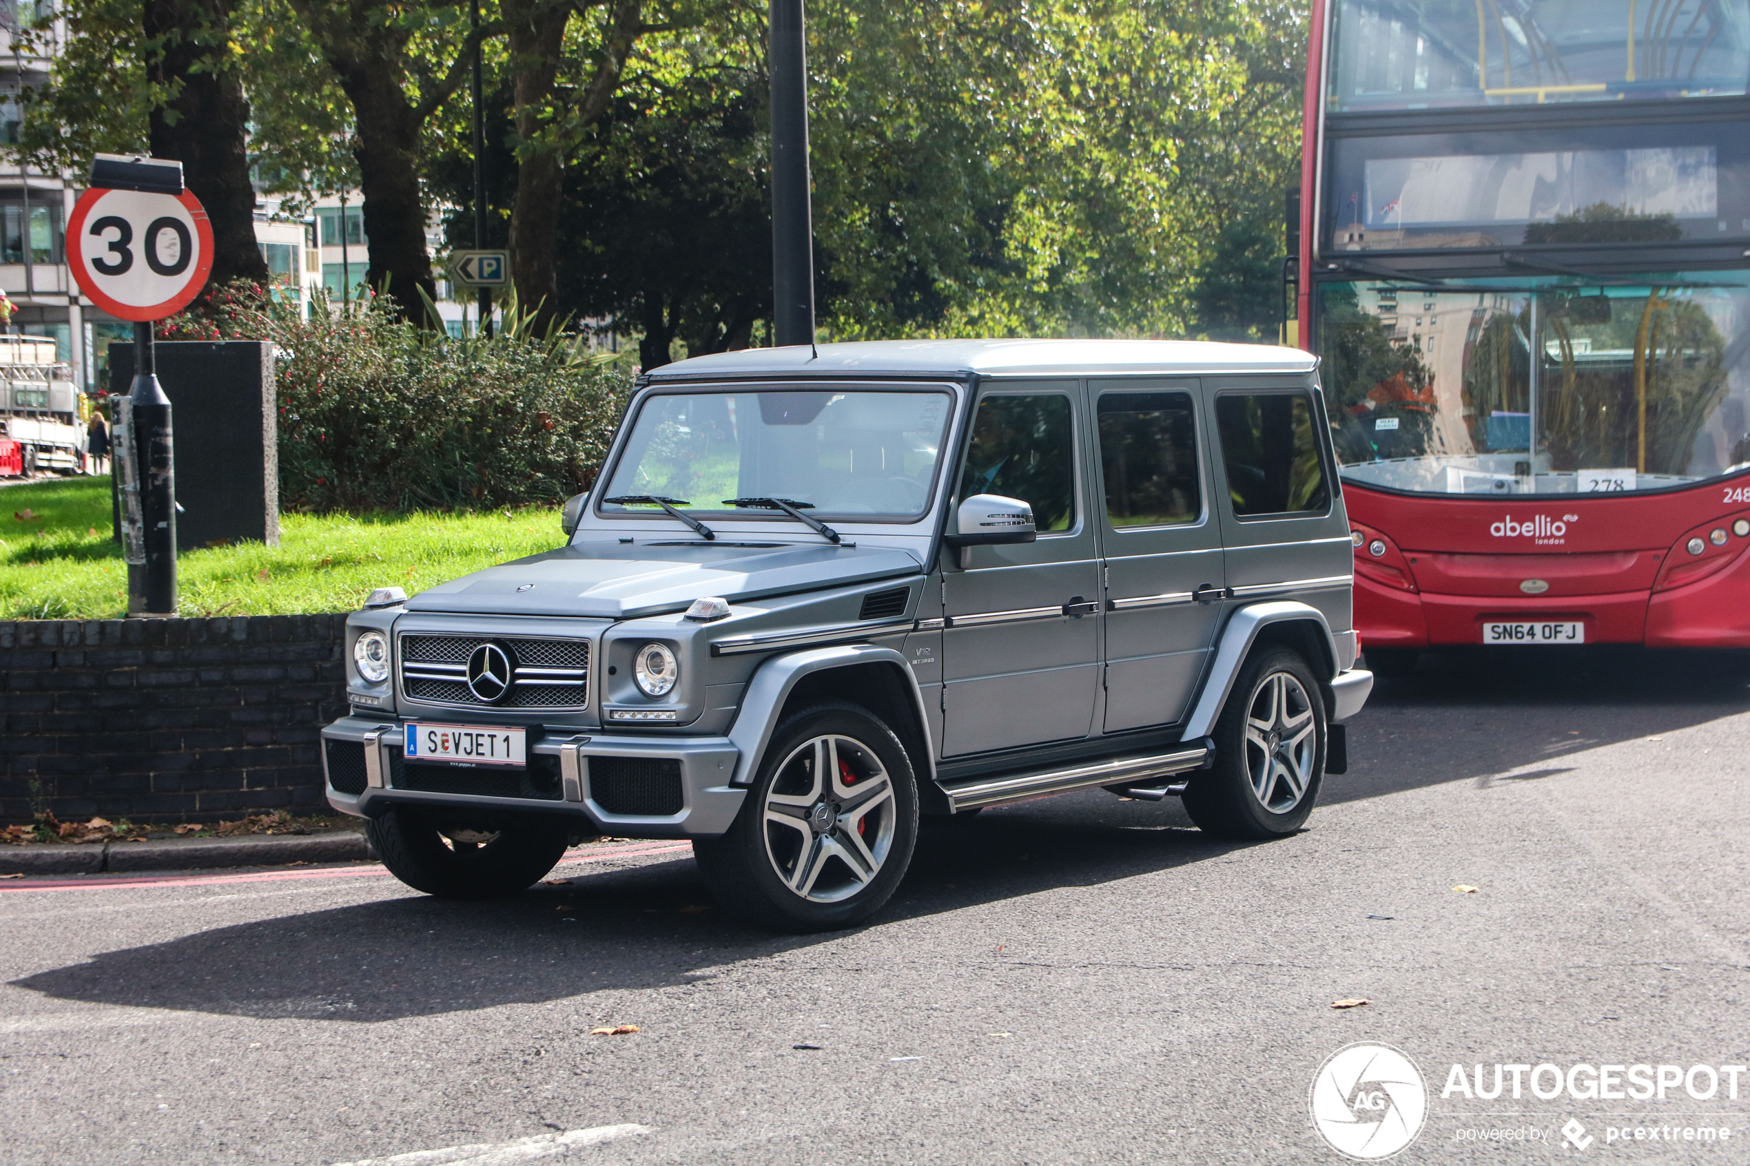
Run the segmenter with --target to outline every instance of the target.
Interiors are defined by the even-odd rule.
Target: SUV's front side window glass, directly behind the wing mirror
[[[1032,507],[1040,533],[1076,524],[1074,425],[1060,393],[985,397],[961,472],[961,498],[1003,495]]]

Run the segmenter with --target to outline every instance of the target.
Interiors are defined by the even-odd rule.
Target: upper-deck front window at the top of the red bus
[[[1743,94],[1750,0],[1337,0],[1328,108]]]

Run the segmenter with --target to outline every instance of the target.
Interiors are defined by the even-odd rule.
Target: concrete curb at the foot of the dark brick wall
[[[103,871],[198,871],[284,867],[294,862],[374,860],[362,830],[243,834],[152,843],[32,843],[0,846],[0,874],[98,874]]]

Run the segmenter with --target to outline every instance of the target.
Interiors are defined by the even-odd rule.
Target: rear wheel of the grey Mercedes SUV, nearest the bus
[[[1309,741],[1302,739],[1306,715]],[[1328,732],[1325,698],[1300,654],[1253,652],[1216,720],[1214,764],[1185,787],[1185,811],[1220,837],[1293,834],[1318,801]]]

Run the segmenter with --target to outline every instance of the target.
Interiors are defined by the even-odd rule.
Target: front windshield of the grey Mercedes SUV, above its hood
[[[936,390],[654,395],[602,496],[662,496],[726,519],[784,521],[777,510],[730,507],[730,498],[784,498],[821,519],[917,519],[929,509],[950,406]],[[604,502],[600,512],[662,507]]]

